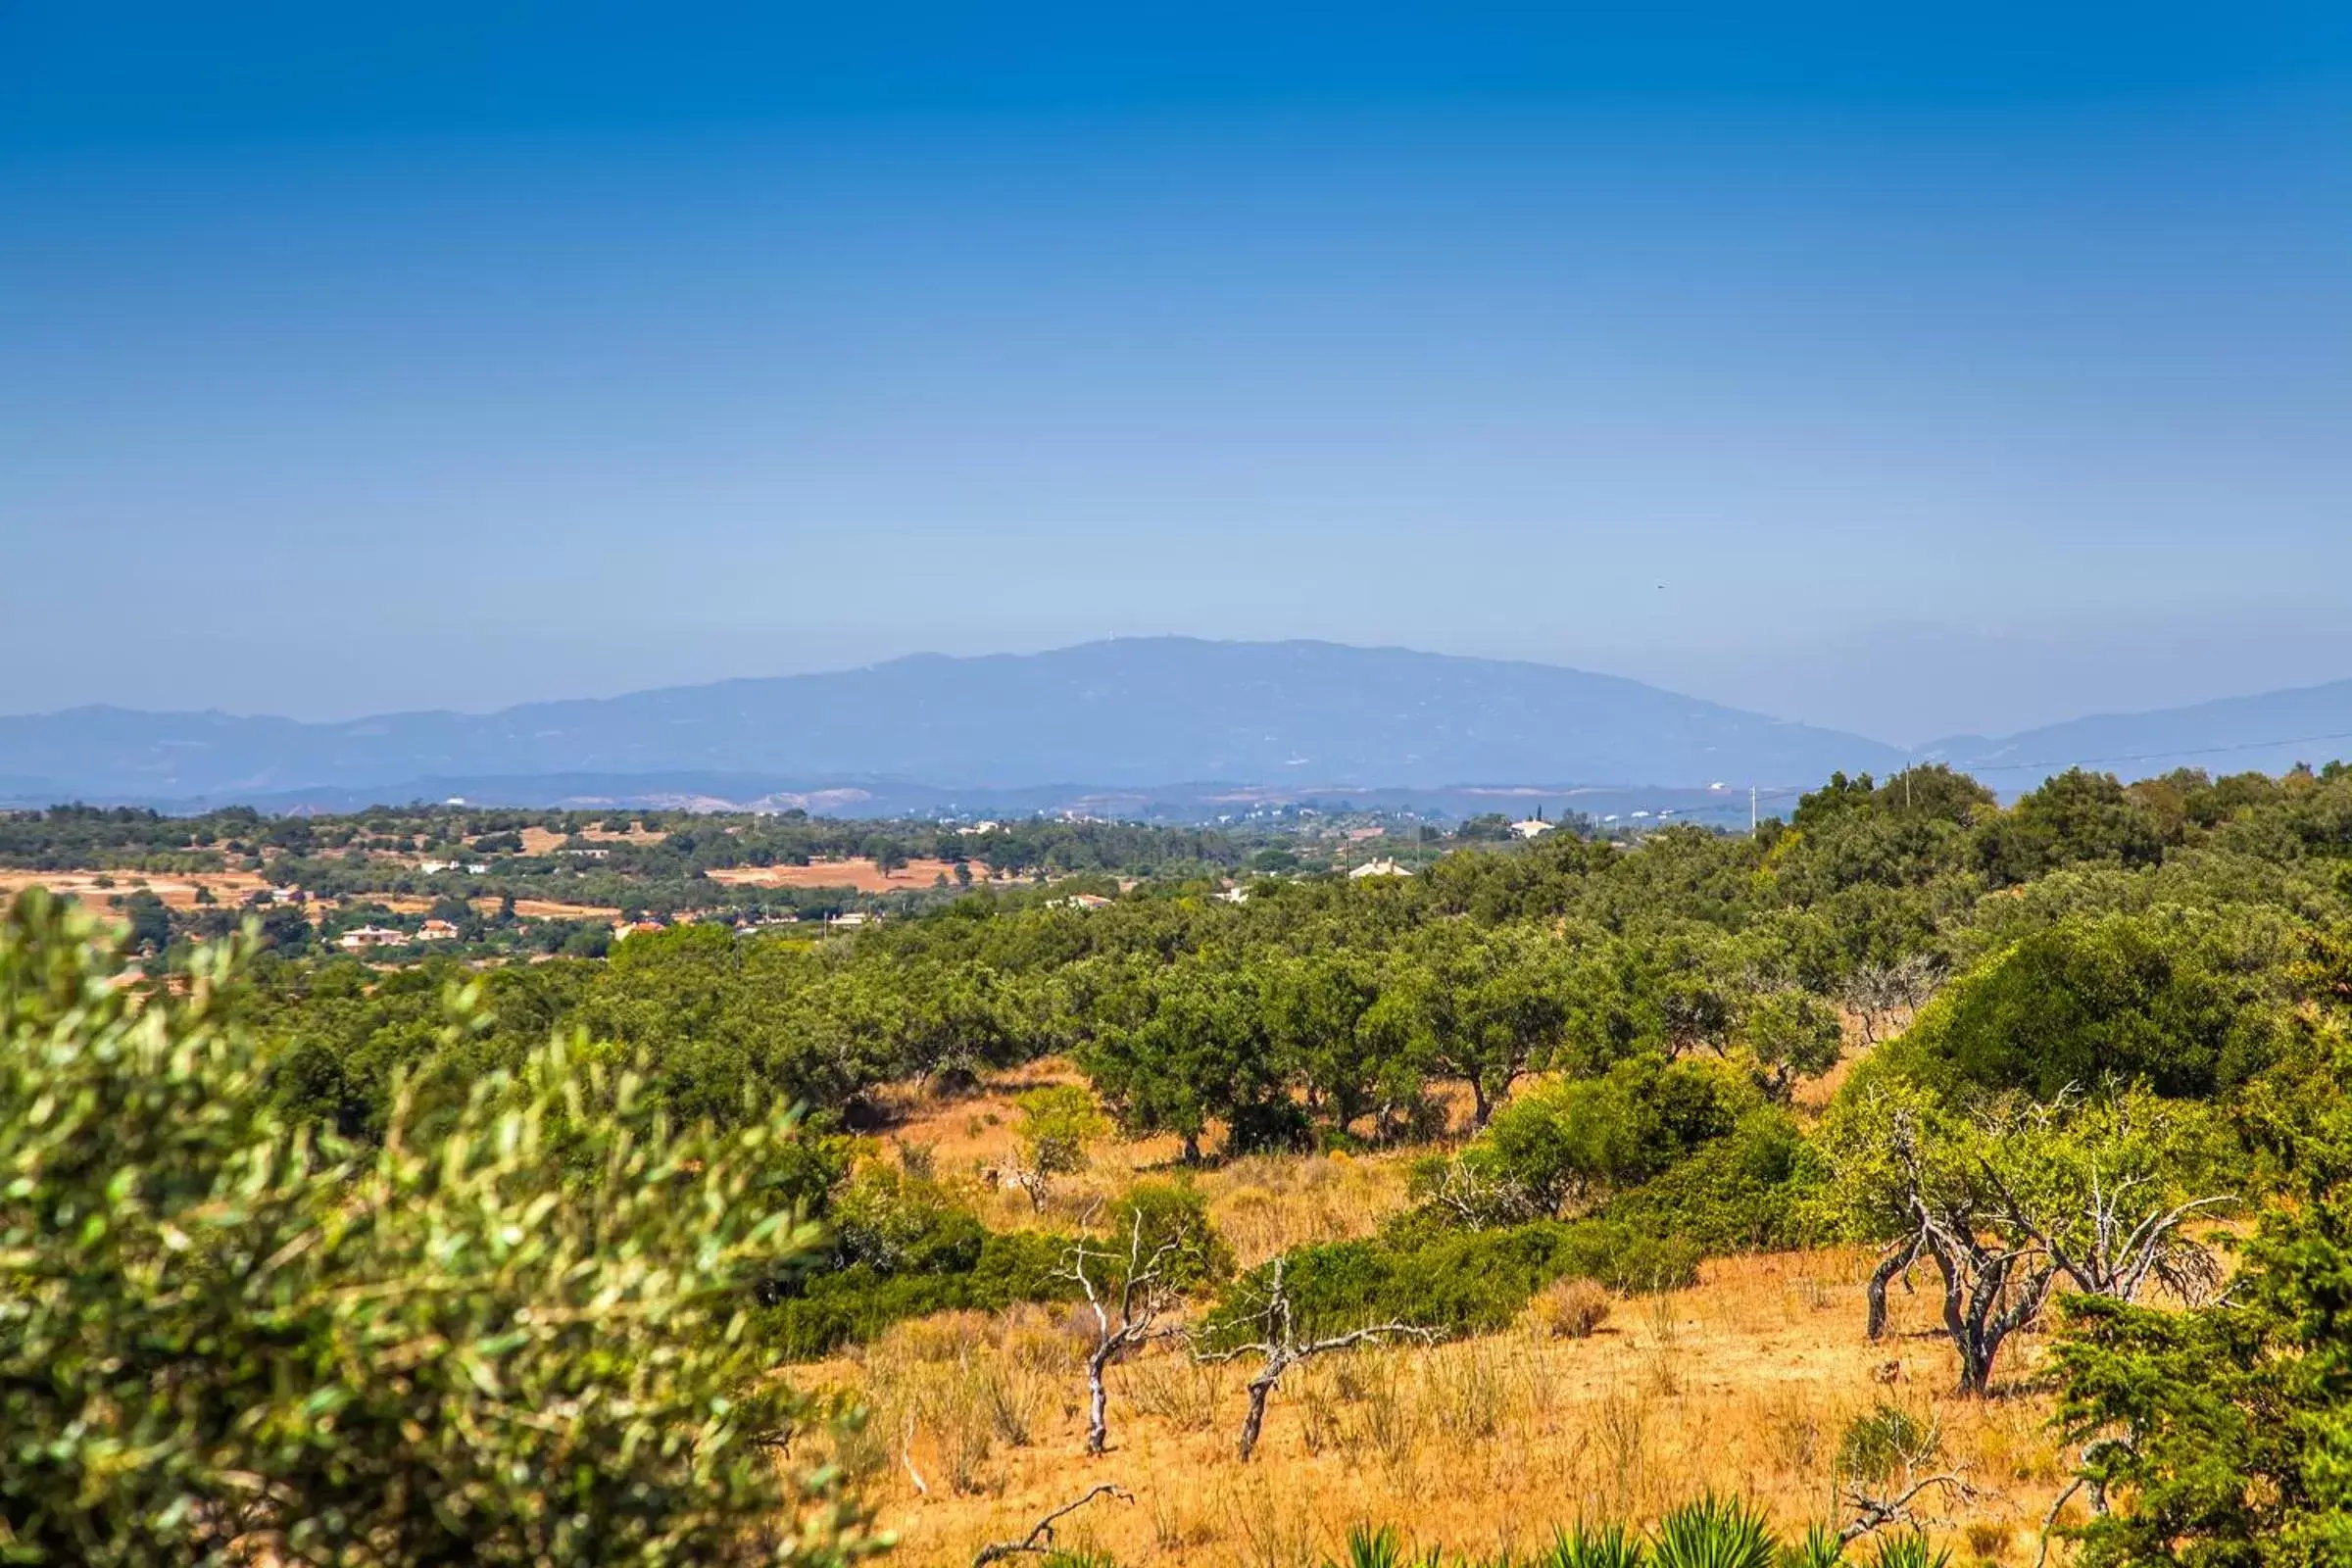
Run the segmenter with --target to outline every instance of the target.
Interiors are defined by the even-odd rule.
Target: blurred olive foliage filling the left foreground
[[[748,1281],[814,1229],[783,1119],[677,1131],[581,1044],[358,1150],[235,1023],[247,943],[134,999],[0,914],[0,1556],[842,1563],[875,1542],[762,1380]],[[466,1030],[461,1001],[452,1030]]]

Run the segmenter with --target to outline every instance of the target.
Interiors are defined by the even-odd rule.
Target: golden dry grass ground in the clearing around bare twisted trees
[[[1068,1077],[1023,1070],[908,1114],[896,1135],[929,1147],[941,1173],[995,1168],[1011,1093]],[[1110,1145],[1044,1218],[1070,1222],[1171,1157],[1162,1140]],[[1200,1185],[1247,1265],[1374,1229],[1404,1204],[1406,1164],[1247,1159]],[[993,1225],[1035,1222],[1018,1192],[981,1204]],[[1555,1523],[1651,1519],[1705,1488],[1802,1530],[1839,1516],[1842,1434],[1879,1403],[1933,1425],[1936,1467],[1976,1490],[1938,1509],[1955,1561],[2030,1563],[2065,1469],[2051,1401],[2032,1389],[2039,1338],[2004,1352],[2009,1394],[1952,1399],[1955,1363],[1924,1293],[1896,1293],[1889,1338],[1865,1340],[1867,1269],[1856,1251],[1726,1258],[1689,1291],[1609,1302],[1588,1338],[1531,1312],[1489,1338],[1310,1361],[1275,1394],[1249,1465],[1235,1458],[1249,1368],[1195,1366],[1176,1347],[1112,1373],[1112,1450],[1087,1460],[1082,1324],[1061,1307],[901,1324],[793,1375],[870,1406],[840,1458],[898,1533],[894,1561],[917,1568],[969,1563],[1096,1481],[1136,1502],[1096,1502],[1063,1526],[1063,1544],[1122,1563],[1319,1563],[1357,1521],[1392,1521],[1423,1547],[1524,1549]]]

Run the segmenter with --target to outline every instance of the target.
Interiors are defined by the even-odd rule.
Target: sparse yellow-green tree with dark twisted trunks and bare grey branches
[[[1933,1265],[1959,1394],[1992,1389],[2002,1345],[2060,1286],[2129,1302],[2161,1281],[2199,1300],[2220,1276],[2187,1232],[2227,1204],[2192,1197],[2211,1164],[2209,1117],[2192,1105],[2126,1088],[2051,1105],[2002,1095],[1962,1114],[1879,1079],[1830,1110],[1816,1147],[1832,1222],[1884,1246],[1870,1338],[1884,1331],[1886,1288]]]

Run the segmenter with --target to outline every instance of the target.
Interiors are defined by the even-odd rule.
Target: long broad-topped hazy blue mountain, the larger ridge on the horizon
[[[85,799],[416,778],[710,771],[1021,788],[1809,783],[1905,752],[1613,675],[1329,642],[1148,637],[917,654],[489,715],[308,724],[75,708],[0,717],[0,773]]]

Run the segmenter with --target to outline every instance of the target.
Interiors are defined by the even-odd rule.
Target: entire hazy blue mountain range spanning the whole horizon
[[[2328,750],[2312,736],[2345,738]],[[0,802],[329,809],[466,795],[1004,811],[1098,797],[1110,816],[1152,813],[1136,802],[1200,813],[1232,799],[1381,792],[1458,809],[1486,799],[1479,788],[1510,799],[1609,788],[1597,799],[1722,804],[1748,785],[1919,759],[2020,790],[2077,759],[2126,776],[2176,762],[2277,771],[2338,750],[2352,752],[2352,682],[1900,750],[1557,665],[1150,637],[1030,656],[922,654],[492,715],[0,717]]]

